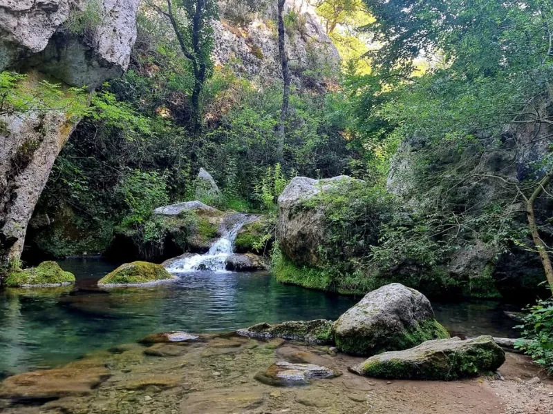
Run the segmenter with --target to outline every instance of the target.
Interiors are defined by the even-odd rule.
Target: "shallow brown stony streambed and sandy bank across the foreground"
[[[91,353],[82,361],[54,370],[9,377],[0,384],[0,411],[6,414],[551,412],[547,411],[549,393],[553,392],[549,380],[534,386],[516,380],[519,377],[529,380],[538,372],[529,359],[520,355],[507,355],[507,363],[501,368],[504,381],[480,378],[459,382],[391,382],[348,372],[349,366],[359,364],[362,359],[340,353],[331,355],[327,346],[282,340],[274,344],[229,334],[198,336],[201,340],[192,343],[126,344],[111,352]],[[303,371],[312,377],[308,384],[283,387],[255,379],[256,373],[275,366],[280,373],[298,371],[301,377]],[[321,378],[329,371],[343,375]],[[282,375],[295,378],[290,372]]]

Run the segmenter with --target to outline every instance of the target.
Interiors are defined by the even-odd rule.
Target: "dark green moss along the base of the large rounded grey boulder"
[[[353,331],[335,337],[336,346],[353,355],[377,355],[386,351],[403,351],[432,339],[447,339],[449,333],[435,319],[416,322],[415,326],[392,333],[388,326],[371,326],[370,332]]]

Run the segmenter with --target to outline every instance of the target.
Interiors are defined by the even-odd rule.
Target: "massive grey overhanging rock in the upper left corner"
[[[122,75],[136,39],[138,0],[0,1],[0,70],[36,67],[71,86],[100,86]],[[71,33],[71,15],[95,8],[97,24]]]

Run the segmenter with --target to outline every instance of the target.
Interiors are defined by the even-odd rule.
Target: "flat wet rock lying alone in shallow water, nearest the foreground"
[[[323,380],[341,375],[326,366],[277,362],[266,371],[257,373],[255,379],[272,386],[309,384],[310,380]]]

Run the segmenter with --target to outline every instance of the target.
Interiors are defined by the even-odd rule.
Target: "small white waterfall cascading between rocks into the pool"
[[[194,255],[179,259],[167,267],[171,273],[190,273],[198,270],[209,270],[212,272],[224,272],[227,266],[227,257],[232,255],[234,240],[244,224],[252,221],[255,217],[238,214],[230,217],[232,224],[230,228],[225,226],[223,237],[217,239],[205,255]]]

